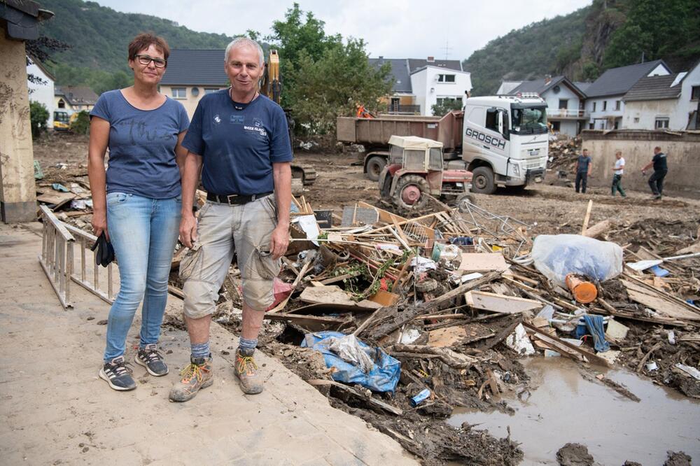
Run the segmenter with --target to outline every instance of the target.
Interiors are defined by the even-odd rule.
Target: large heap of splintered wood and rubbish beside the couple
[[[426,464],[519,462],[510,438],[444,419],[456,407],[512,412],[503,399],[528,395],[524,356],[571,358],[632,400],[595,367],[625,365],[700,397],[699,258],[645,267],[667,249],[647,240],[650,249],[633,253],[629,243],[594,239],[639,225],[584,220],[581,235],[550,236],[466,200],[434,200],[414,218],[364,202],[342,216],[303,197],[293,204],[262,350]],[[215,316],[233,331],[239,287],[234,264]]]

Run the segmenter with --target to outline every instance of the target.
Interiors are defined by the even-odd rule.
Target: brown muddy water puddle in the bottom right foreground
[[[605,376],[624,384],[640,402],[584,379],[582,369],[569,360],[523,363],[533,388],[526,402],[506,399],[514,415],[456,409],[447,422],[479,424],[476,428],[496,437],[505,437],[510,426],[511,438],[524,451],[523,465],[556,465],[556,451],[567,442],[588,446],[601,465],[625,460],[661,465],[668,450],[700,460],[700,402],[624,370],[610,369]]]

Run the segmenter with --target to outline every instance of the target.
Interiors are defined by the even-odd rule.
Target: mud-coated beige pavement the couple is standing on
[[[38,223],[0,225],[0,458],[59,465],[398,465],[415,461],[360,418],[333,409],[280,362],[258,352],[268,377],[244,395],[232,373],[236,339],[212,325],[214,386],[187,403],[168,402],[189,358],[186,332],[164,327],[170,374],[134,364],[137,390],[119,393],[97,377],[109,305],[78,285],[64,311],[37,255]],[[169,297],[168,313],[181,301]],[[88,320],[90,318],[90,320]],[[138,344],[138,313],[127,359]],[[230,355],[221,355],[221,350]]]

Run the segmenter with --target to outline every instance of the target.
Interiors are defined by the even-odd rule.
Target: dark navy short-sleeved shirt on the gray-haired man
[[[235,103],[228,89],[202,97],[182,145],[203,157],[204,189],[217,195],[272,192],[272,164],[292,160],[282,108],[262,95]]]

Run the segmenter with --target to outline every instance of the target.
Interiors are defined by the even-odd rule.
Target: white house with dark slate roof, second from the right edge
[[[645,76],[666,76],[671,70],[663,60],[621,66],[605,71],[586,90],[585,110],[589,129],[622,129],[624,96]]]

